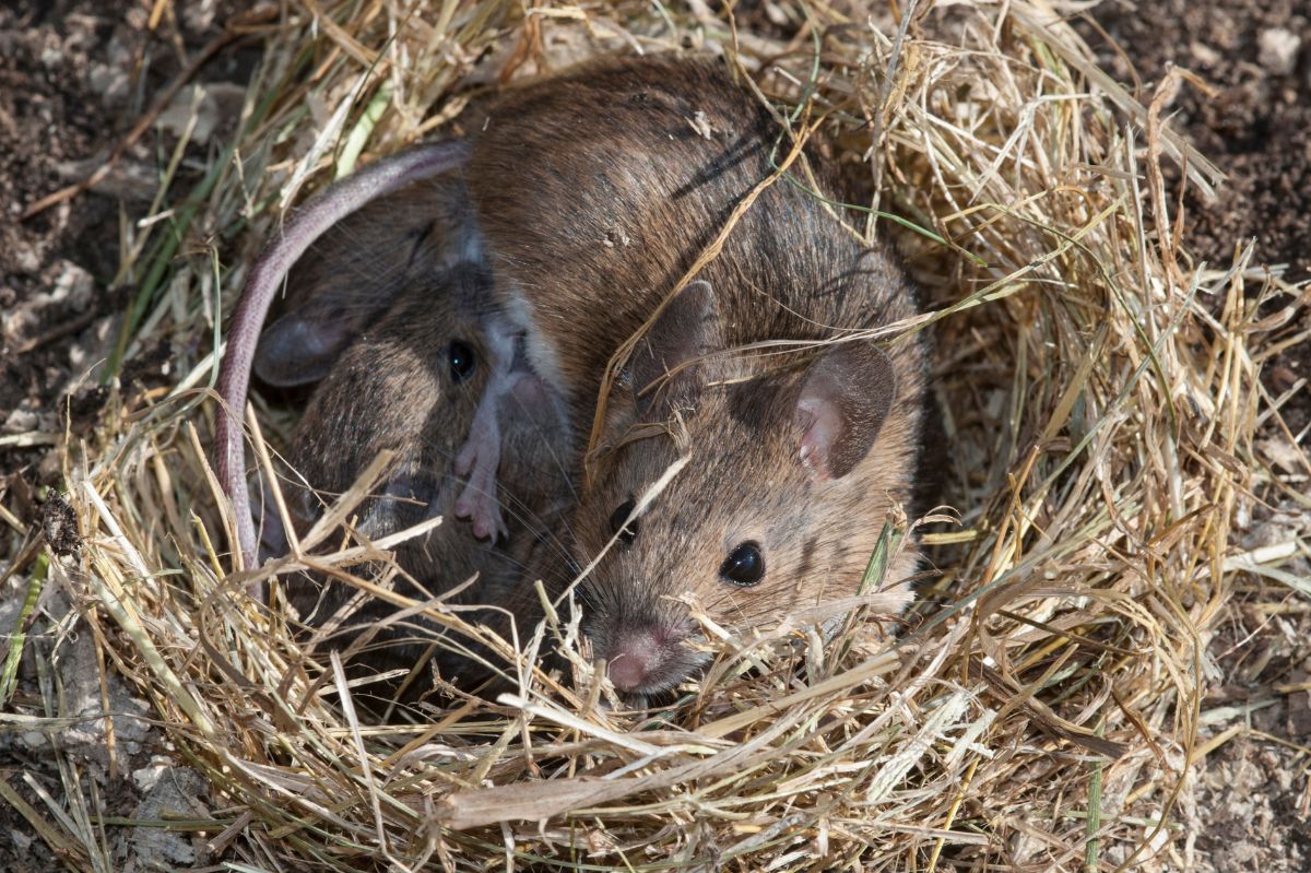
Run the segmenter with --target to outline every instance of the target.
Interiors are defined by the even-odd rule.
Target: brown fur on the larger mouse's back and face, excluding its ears
[[[709,123],[711,139],[694,119]],[[713,62],[611,62],[523,88],[492,109],[473,140],[469,190],[497,299],[511,317],[527,313],[527,346],[569,402],[576,451],[610,357],[771,172],[777,138],[764,110]],[[746,212],[697,278],[713,287],[726,349],[835,340],[915,312],[890,254],[861,250],[814,197],[785,181]],[[581,589],[599,655],[614,655],[616,637],[642,625],[682,633],[686,610],[671,598],[686,592],[714,619],[751,627],[852,591],[891,505],[907,502],[912,488],[924,350],[912,338],[888,354],[895,397],[882,400],[888,414],[872,448],[847,459],[852,472],[836,478],[814,476],[797,457],[792,410],[808,364],[796,354],[738,354],[714,370],[745,384],[712,384],[691,409],[671,404],[682,419],[665,423],[686,427],[691,461],[642,515],[632,545],[616,545]],[[886,381],[868,389],[893,389]],[[637,406],[619,406],[629,412],[612,416],[607,431],[619,447],[569,524],[583,562],[610,539],[615,509],[680,455],[667,436],[624,442]],[[764,547],[767,575],[734,589],[718,568],[746,540]],[[910,568],[895,568],[893,581]],[[684,648],[665,655],[653,687],[692,666]]]

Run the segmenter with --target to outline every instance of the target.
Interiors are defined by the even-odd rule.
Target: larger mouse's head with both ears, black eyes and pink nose
[[[884,351],[840,342],[783,367],[755,359],[768,370],[724,351],[713,290],[688,286],[633,353],[617,389],[632,401],[617,404],[614,448],[572,520],[583,560],[615,537],[578,600],[621,692],[663,691],[701,666],[687,595],[741,629],[853,594],[909,492],[915,419]]]

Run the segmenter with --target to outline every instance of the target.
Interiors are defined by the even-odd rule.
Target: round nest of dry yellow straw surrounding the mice
[[[307,0],[252,25],[241,134],[173,216],[180,252],[134,267],[127,353],[195,351],[172,391],[125,395],[60,448],[83,545],[47,574],[210,781],[214,848],[279,869],[1184,863],[1207,629],[1261,557],[1230,543],[1269,481],[1260,271],[1180,248],[1163,172],[1219,174],[1162,121],[1176,79],[1138,102],[1044,0],[874,5]],[[936,573],[894,640],[851,621],[720,641],[671,712],[603,705],[579,661],[561,682],[524,666],[496,704],[362,725],[333,703],[340,665],[239,596],[207,460],[219,312],[284,210],[357,161],[498,81],[666,50],[729,54],[822,119],[868,180],[861,229],[924,288],[936,518],[954,519],[923,528]],[[292,410],[256,398],[254,421],[267,464]],[[361,548],[317,553],[349,570]]]

